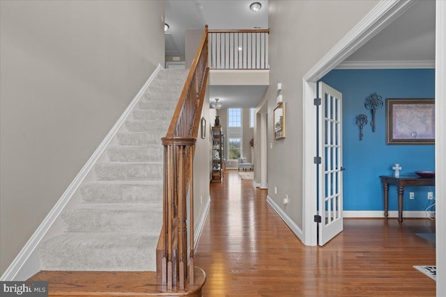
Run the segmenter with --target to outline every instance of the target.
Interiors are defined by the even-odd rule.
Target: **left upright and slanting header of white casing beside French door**
[[[302,78],[302,231],[303,243],[306,246],[317,245],[317,225],[314,215],[317,214],[316,205],[316,98],[317,81],[334,67],[339,65],[354,51],[362,47],[388,24],[404,13],[415,1],[380,1],[369,14],[364,17],[347,35],[335,45],[307,74]],[[437,192],[438,195],[438,192]]]

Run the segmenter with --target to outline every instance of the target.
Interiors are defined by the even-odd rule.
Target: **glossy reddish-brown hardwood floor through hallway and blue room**
[[[226,170],[195,253],[203,296],[435,296],[436,282],[413,268],[435,265],[435,244],[415,233],[435,222],[346,219],[323,247],[304,246],[266,203],[266,191]]]

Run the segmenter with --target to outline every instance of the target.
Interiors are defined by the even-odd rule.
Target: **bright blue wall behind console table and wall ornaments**
[[[392,175],[392,165],[399,163],[400,175],[415,175],[417,170],[435,170],[434,145],[386,145],[386,98],[433,98],[435,70],[332,70],[321,79],[342,93],[344,210],[376,211],[383,209],[383,190],[379,175]],[[376,111],[376,131],[372,132],[371,111],[364,107],[371,93],[383,97],[383,107]],[[355,124],[364,113],[368,123],[363,139]],[[427,192],[435,187],[406,186],[403,210],[421,211],[433,204]],[[409,200],[415,192],[415,200]],[[390,186],[389,210],[397,210],[397,190]]]

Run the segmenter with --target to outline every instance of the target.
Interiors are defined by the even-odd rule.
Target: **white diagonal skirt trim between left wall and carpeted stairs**
[[[43,236],[47,233],[49,228],[53,225],[56,218],[61,214],[63,209],[66,207],[66,204],[70,201],[72,195],[77,191],[77,188],[79,188],[82,181],[84,181],[86,175],[90,172],[90,170],[95,165],[96,161],[98,161],[100,155],[105,151],[105,148],[107,145],[112,141],[112,138],[116,135],[118,132],[118,129],[121,128],[123,123],[125,122],[125,119],[130,115],[130,112],[134,108],[134,106],[138,103],[139,99],[142,97],[146,89],[148,88],[148,85],[155,79],[156,74],[162,69],[162,66],[158,64],[156,69],[153,71],[151,76],[148,78],[146,83],[144,83],[144,86],[142,86],[141,90],[137,93],[137,95],[134,97],[132,102],[130,102],[130,105],[125,109],[123,114],[121,115],[121,118],[116,122],[116,124],[113,126],[113,128],[109,131],[107,136],[105,136],[102,143],[99,145],[99,147],[95,150],[93,155],[91,155],[89,161],[87,161],[84,165],[84,167],[79,171],[75,179],[71,182],[70,186],[66,189],[66,191],[63,193],[61,198],[56,202],[54,207],[51,211],[47,214],[43,222],[39,225],[36,232],[33,233],[31,238],[28,242],[26,242],[25,246],[20,250],[19,254],[13,262],[10,264],[10,266],[6,269],[5,273],[1,275],[0,281],[13,281],[18,280],[17,275],[19,275],[20,280],[26,280],[26,278],[31,277],[35,273],[40,270],[40,264],[34,263],[36,262],[36,259],[38,261],[38,257],[34,255],[32,257],[34,251],[38,247],[38,244],[43,239]],[[32,259],[33,263],[28,263],[29,260]],[[37,269],[37,271],[36,271]],[[23,279],[25,278],[25,279]]]

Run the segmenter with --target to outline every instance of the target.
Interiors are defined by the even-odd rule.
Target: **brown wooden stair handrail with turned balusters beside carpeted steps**
[[[181,92],[164,145],[163,225],[157,248],[157,271],[167,289],[185,280],[194,285],[193,160],[208,80],[208,26]],[[190,204],[187,206],[187,195]],[[187,211],[189,207],[189,211]],[[190,214],[187,228],[187,212]],[[187,250],[189,235],[190,250]],[[158,255],[159,253],[159,255]],[[187,255],[189,254],[189,255]],[[189,262],[189,269],[187,263]]]

